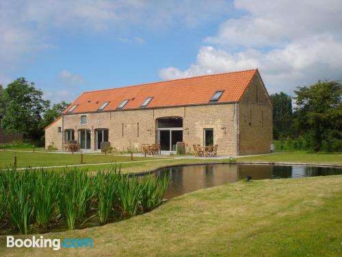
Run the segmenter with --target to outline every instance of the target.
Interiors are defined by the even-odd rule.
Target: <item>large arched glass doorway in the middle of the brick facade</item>
[[[161,154],[176,153],[177,142],[183,142],[183,119],[164,117],[157,119],[157,143]]]

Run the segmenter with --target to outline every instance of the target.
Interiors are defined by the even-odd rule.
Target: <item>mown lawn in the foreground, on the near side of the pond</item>
[[[92,249],[6,249],[1,256],[341,256],[342,175],[237,182],[176,197],[99,228]]]

